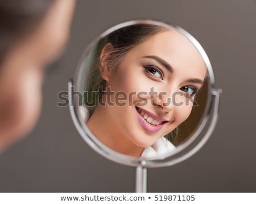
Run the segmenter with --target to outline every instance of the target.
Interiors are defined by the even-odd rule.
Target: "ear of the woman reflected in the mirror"
[[[109,59],[112,57],[112,53],[114,51],[113,45],[109,42],[104,46],[104,48],[101,50],[101,56],[100,56],[100,73],[101,77],[105,79],[107,82],[109,82],[110,78],[110,67],[109,67]]]

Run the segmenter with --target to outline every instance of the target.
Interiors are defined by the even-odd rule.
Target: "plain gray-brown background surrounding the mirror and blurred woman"
[[[164,20],[190,32],[208,53],[216,87],[223,90],[208,143],[183,163],[149,169],[148,192],[256,191],[255,1],[80,0],[67,50],[44,84],[38,125],[0,155],[0,192],[134,192],[134,168],[96,154],[77,133],[68,108],[56,106],[90,41],[132,19]]]

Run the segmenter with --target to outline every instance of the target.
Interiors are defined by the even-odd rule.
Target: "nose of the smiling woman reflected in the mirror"
[[[174,103],[172,103],[171,94],[167,92],[160,92],[153,97],[153,104],[163,109],[165,112],[170,112],[174,109]]]

